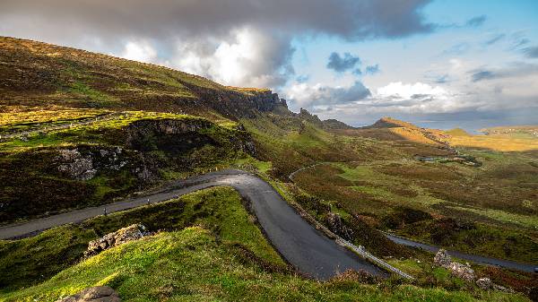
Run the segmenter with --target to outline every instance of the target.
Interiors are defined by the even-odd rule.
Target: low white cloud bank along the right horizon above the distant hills
[[[425,82],[390,82],[373,90],[369,97],[348,103],[317,106],[312,113],[321,118],[338,118],[357,125],[362,120],[378,116],[402,116],[421,120],[435,116],[463,116],[471,122],[480,118],[505,121],[508,112],[538,112],[538,65],[526,62],[511,62],[507,65],[476,66],[476,62],[451,59],[445,65],[438,65],[427,79],[440,79],[437,84]],[[473,82],[473,75],[476,80]],[[497,116],[495,116],[497,115]],[[531,117],[529,117],[531,116]],[[498,118],[499,117],[499,118]],[[528,123],[526,119],[510,119]]]

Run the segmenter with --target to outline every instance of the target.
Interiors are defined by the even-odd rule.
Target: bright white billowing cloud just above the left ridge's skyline
[[[232,30],[223,40],[178,41],[171,65],[232,86],[279,87],[295,74],[287,36],[253,28]]]

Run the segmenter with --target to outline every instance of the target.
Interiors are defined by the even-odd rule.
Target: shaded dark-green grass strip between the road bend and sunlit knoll
[[[97,235],[139,222],[153,231],[202,225],[225,242],[239,243],[266,262],[283,265],[252,221],[235,190],[216,187],[86,220],[81,226],[50,229],[37,237],[0,241],[0,271],[8,272],[0,274],[0,288],[19,289],[45,280],[80,259],[88,242]]]

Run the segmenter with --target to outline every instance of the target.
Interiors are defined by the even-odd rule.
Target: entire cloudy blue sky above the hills
[[[350,125],[538,124],[535,0],[2,0],[0,35],[270,88]]]

